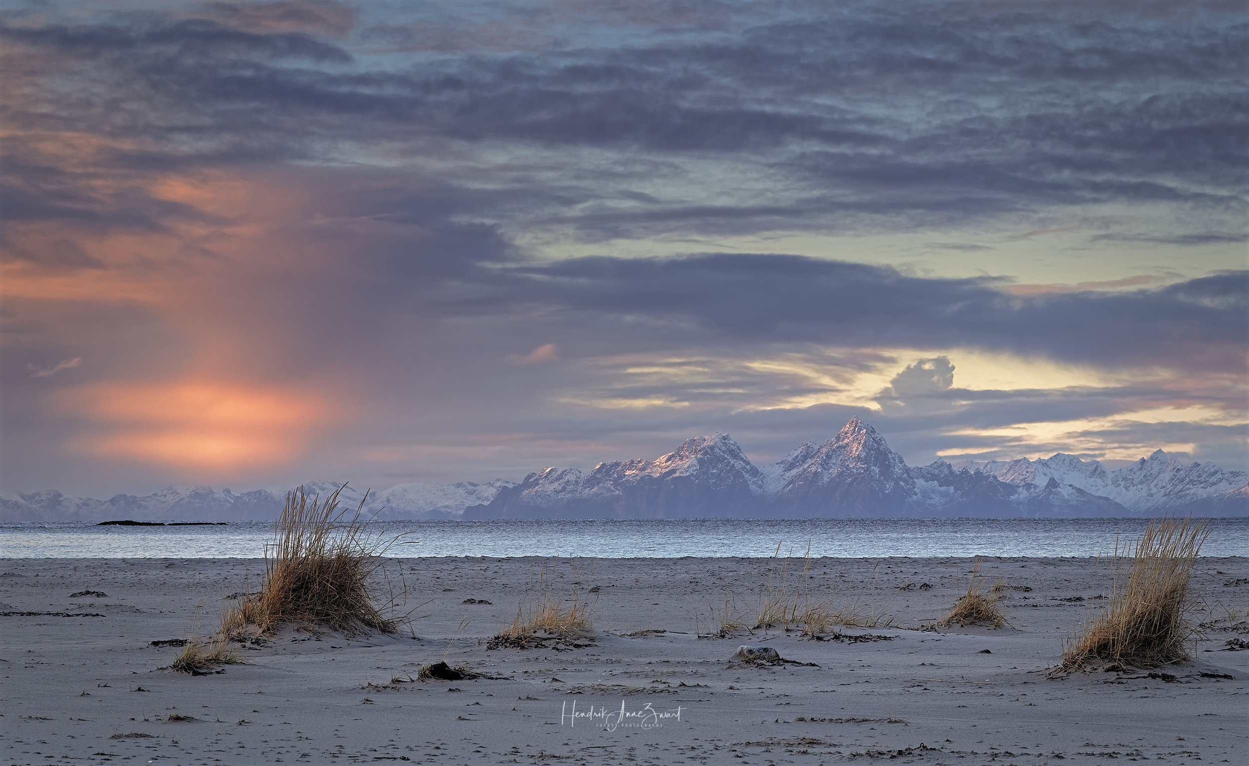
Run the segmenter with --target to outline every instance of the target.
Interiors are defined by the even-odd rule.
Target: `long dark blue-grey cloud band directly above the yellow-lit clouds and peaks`
[[[1240,371],[1249,341],[1249,272],[1160,289],[1004,296],[995,279],[939,279],[798,256],[575,258],[517,268],[462,311],[535,302],[576,312],[646,314],[721,338],[944,348],[967,343],[1085,363],[1158,359]]]

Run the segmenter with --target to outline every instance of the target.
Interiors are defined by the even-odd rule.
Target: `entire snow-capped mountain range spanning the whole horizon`
[[[304,487],[326,495],[340,483]],[[341,499],[356,507],[363,493],[347,487]],[[0,495],[4,521],[262,520],[281,508],[277,493],[214,487],[107,500],[55,490]],[[764,467],[718,433],[653,460],[600,463],[590,472],[545,468],[520,483],[396,484],[370,493],[362,508],[377,519],[1234,516],[1249,515],[1249,474],[1185,464],[1160,449],[1115,470],[1063,453],[912,468],[854,418],[827,442],[808,442]]]

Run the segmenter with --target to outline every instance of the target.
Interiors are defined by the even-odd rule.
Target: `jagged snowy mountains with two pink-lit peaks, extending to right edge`
[[[687,440],[654,460],[531,473],[465,519],[515,518],[864,518],[1124,516],[1249,514],[1242,472],[1184,465],[1154,453],[1108,472],[1095,460],[911,468],[871,425],[852,419],[832,439],[808,442],[756,468],[726,434]]]

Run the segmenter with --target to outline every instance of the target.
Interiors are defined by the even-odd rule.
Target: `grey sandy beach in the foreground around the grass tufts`
[[[593,639],[488,649],[543,565],[557,593],[590,600]],[[1243,618],[1249,559],[1199,561],[1194,588],[1209,609],[1197,618],[1214,621],[1194,662],[1063,680],[1047,669],[1109,594],[1109,573],[1092,559],[983,559],[983,574],[1015,586],[1004,603],[1012,625],[942,631],[921,628],[965,590],[969,560],[817,559],[811,594],[871,605],[894,624],[844,629],[841,640],[778,629],[698,636],[718,630],[712,610],[726,590],[749,621],[779,566],[395,560],[408,605],[428,601],[411,634],[285,629],[239,646],[246,664],[191,676],[162,670],[177,649],[151,642],[194,635],[196,614],[207,634],[245,574],[256,585],[260,560],[9,559],[0,762],[1245,762],[1249,651],[1227,642],[1249,636],[1219,618],[1228,608]],[[743,644],[796,664],[731,661]],[[482,677],[408,681],[438,660]]]

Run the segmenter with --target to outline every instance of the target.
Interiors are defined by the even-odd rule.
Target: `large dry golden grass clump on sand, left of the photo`
[[[366,528],[363,500],[353,513],[340,510],[343,487],[323,503],[318,497],[309,498],[302,488],[287,493],[274,541],[265,545],[261,591],[226,614],[221,625],[225,634],[249,625],[271,633],[286,623],[313,623],[348,635],[398,629],[403,619],[383,611],[403,600],[406,589],[395,596],[382,558],[397,538],[378,536]]]

